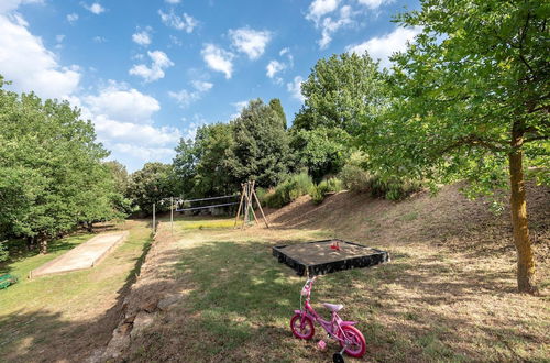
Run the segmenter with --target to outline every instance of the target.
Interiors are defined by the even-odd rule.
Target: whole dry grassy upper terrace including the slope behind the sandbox
[[[345,305],[360,321],[369,361],[542,361],[550,355],[549,190],[530,186],[529,213],[542,296],[516,293],[507,211],[469,201],[450,186],[402,202],[340,193],[315,206],[301,197],[270,211],[270,230],[229,220],[161,222],[128,297],[132,361],[329,361],[292,337],[304,277],[271,246],[329,237],[387,250],[392,263],[319,278],[314,301]],[[506,196],[503,196],[506,198]],[[177,295],[170,309],[156,308]],[[139,317],[139,318],[138,318]],[[146,317],[146,319],[144,318]],[[128,322],[133,321],[133,322]],[[146,321],[146,323],[143,323]],[[317,339],[323,336],[318,332]]]

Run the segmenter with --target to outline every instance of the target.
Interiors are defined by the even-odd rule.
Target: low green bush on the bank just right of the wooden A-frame
[[[264,195],[265,205],[271,208],[280,208],[308,194],[314,182],[307,173],[293,175]]]

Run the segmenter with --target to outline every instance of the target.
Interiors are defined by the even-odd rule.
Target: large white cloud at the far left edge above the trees
[[[2,9],[13,10],[18,4],[2,2]],[[78,88],[78,67],[62,67],[28,25],[20,15],[0,14],[0,74],[13,81],[10,88],[15,91],[33,90],[43,98],[66,98]]]

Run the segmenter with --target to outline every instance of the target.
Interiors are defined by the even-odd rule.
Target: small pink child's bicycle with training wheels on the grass
[[[306,340],[314,338],[314,322],[317,321],[327,331],[327,338],[337,340],[340,343],[340,346],[342,346],[342,350],[334,353],[332,356],[334,362],[343,362],[344,360],[342,353],[344,352],[353,358],[363,356],[366,351],[366,342],[361,331],[353,327],[356,322],[343,321],[338,316],[338,311],[343,308],[343,305],[328,302],[322,304],[327,309],[332,311],[332,318],[330,320],[322,319],[311,307],[309,300],[311,298],[311,286],[314,285],[316,278],[317,276],[308,278],[306,285],[301,288],[300,310],[294,310],[294,316],[290,319],[290,329],[293,330],[293,334],[296,338]],[[301,297],[306,297],[304,305],[301,304]]]

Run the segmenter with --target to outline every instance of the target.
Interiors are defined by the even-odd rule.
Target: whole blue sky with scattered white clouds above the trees
[[[16,91],[67,99],[130,172],[170,162],[180,138],[279,98],[289,122],[321,57],[388,65],[418,29],[413,0],[1,0],[0,74]]]

